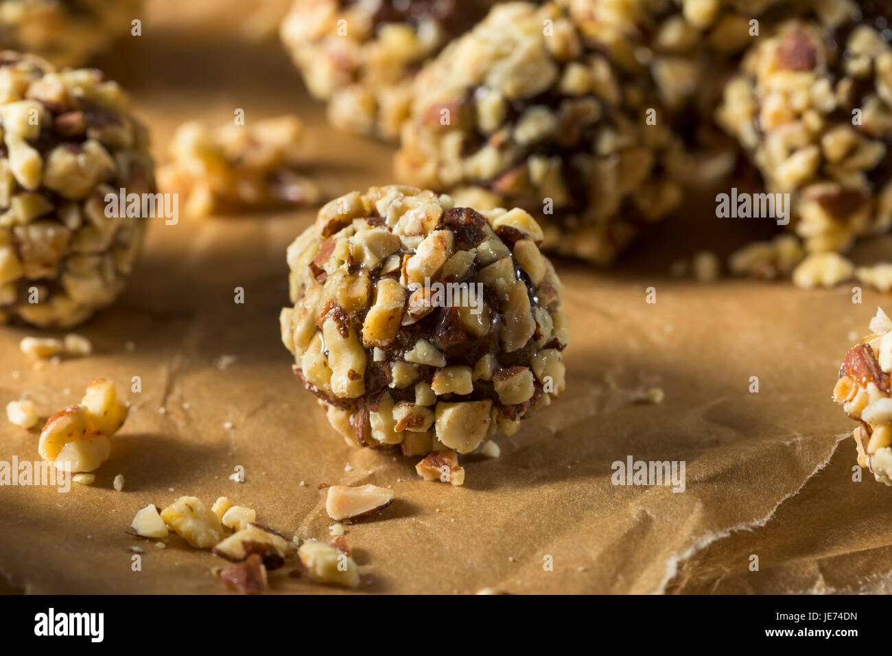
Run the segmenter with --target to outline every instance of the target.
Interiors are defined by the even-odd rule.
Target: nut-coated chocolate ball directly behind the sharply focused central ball
[[[547,248],[607,264],[681,197],[650,93],[556,5],[500,4],[417,75],[397,177],[477,209],[522,207]]]

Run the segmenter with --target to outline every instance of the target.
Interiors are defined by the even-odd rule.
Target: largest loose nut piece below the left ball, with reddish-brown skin
[[[78,405],[70,405],[46,420],[37,452],[45,461],[71,473],[98,469],[108,460],[113,436],[127,419],[114,383],[96,378]]]

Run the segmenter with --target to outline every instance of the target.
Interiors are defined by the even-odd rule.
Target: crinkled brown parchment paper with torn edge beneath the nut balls
[[[262,8],[275,17],[285,4]],[[100,62],[134,96],[158,157],[182,120],[231,120],[236,108],[246,120],[297,112],[326,197],[391,182],[392,148],[329,128],[248,13],[235,0],[150,2],[143,36]],[[87,358],[37,367],[18,349],[37,331],[0,328],[3,405],[24,394],[45,418],[104,377],[133,406],[95,485],[73,484],[68,494],[0,487],[7,591],[220,593],[210,552],[176,536],[161,549],[126,535],[136,510],[181,494],[208,503],[226,495],[268,526],[324,538],[334,522],[316,489],[323,482],[396,492],[378,518],[347,527],[365,592],[892,587],[892,490],[867,472],[853,481],[855,447],[841,442],[852,426],[830,401],[850,331],[863,334],[876,306],[892,305],[888,296],[865,290],[854,304],[851,286],[804,292],[670,278],[676,257],[725,254],[771,231],[715,219],[706,195],[616,270],[558,262],[571,329],[566,394],[502,437],[499,459],[467,458],[466,485],[452,487],[418,479],[414,459],[348,447],[293,379],[277,326],[288,300],[285,247],[314,214],[156,222],[126,294],[78,329],[95,345]],[[888,241],[862,250],[868,260],[892,252]],[[234,302],[235,287],[244,304]],[[645,302],[648,287],[657,303]],[[220,368],[222,355],[235,361]],[[635,402],[653,386],[665,390],[664,403]],[[0,421],[0,460],[37,459],[37,436]],[[612,463],[630,455],[685,461],[685,491],[612,485]],[[228,479],[237,465],[244,483]],[[122,492],[111,486],[117,474]],[[140,571],[131,569],[133,544],[145,549]],[[285,576],[271,577],[271,587],[337,592]]]

